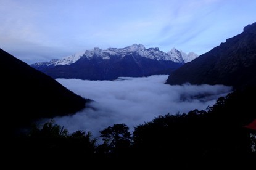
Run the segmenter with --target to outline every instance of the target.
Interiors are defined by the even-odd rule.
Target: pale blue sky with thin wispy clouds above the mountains
[[[0,0],[0,48],[27,63],[144,44],[204,54],[256,22],[253,0]]]

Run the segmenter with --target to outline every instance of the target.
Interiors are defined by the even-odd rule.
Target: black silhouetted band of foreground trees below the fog
[[[100,131],[101,145],[96,145],[91,132],[79,130],[69,134],[63,126],[50,121],[41,128],[34,126],[27,136],[16,139],[18,142],[12,147],[14,155],[40,153],[47,154],[49,159],[60,156],[97,160],[110,166],[127,163],[128,159],[130,163],[183,166],[184,162],[223,163],[228,158],[232,161],[228,163],[234,165],[242,161],[250,164],[256,154],[252,150],[256,133],[244,125],[256,119],[254,100],[250,99],[255,95],[256,90],[248,88],[220,97],[207,111],[158,116],[134,127],[133,135],[126,124],[114,124]]]

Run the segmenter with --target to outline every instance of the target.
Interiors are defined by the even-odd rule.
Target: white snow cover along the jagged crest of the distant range
[[[79,52],[74,55],[70,55],[64,57],[62,59],[53,59],[50,62],[38,62],[34,65],[47,65],[47,66],[56,66],[56,65],[70,65],[75,63],[81,57],[86,57],[87,59],[91,59],[92,57],[101,57],[104,60],[110,59],[112,56],[120,56],[124,57],[128,54],[137,54],[141,57],[146,57],[148,59],[154,60],[167,60],[173,61],[175,63],[186,63],[190,62],[191,60],[195,59],[198,55],[194,54],[194,52],[190,52],[186,54],[182,51],[178,51],[177,49],[173,48],[169,52],[160,51],[159,48],[149,48],[146,49],[142,44],[133,44],[131,46],[125,48],[108,48],[105,50],[99,49],[95,47],[91,50],[86,50],[85,52]]]

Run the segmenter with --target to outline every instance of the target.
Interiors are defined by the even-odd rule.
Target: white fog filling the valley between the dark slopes
[[[99,131],[104,128],[119,123],[127,124],[133,131],[133,127],[159,115],[206,110],[218,97],[232,91],[231,87],[223,85],[170,86],[164,84],[167,78],[168,75],[123,77],[115,81],[57,79],[71,91],[94,102],[75,115],[54,118],[55,123],[69,132],[91,131],[94,137],[99,137]]]

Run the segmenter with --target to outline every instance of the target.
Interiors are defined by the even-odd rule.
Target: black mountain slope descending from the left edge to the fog
[[[0,49],[1,115],[15,130],[39,118],[85,108],[86,99]],[[9,125],[10,126],[10,125]]]

